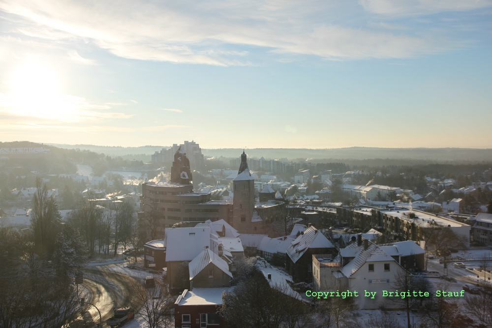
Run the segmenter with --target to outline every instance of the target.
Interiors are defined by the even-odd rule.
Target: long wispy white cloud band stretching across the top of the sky
[[[470,10],[489,6],[491,1],[360,0],[360,4],[370,13],[404,15]],[[228,66],[251,64],[245,46],[277,54],[280,61],[288,54],[325,59],[406,58],[454,47],[435,31],[393,33],[371,28],[363,15],[352,26],[340,23],[338,13],[353,10],[340,6],[331,1],[307,5],[295,0],[250,0],[193,3],[190,10],[187,1],[0,2],[0,10],[24,19],[22,27],[29,26],[30,35],[57,41],[91,40],[116,56],[138,60]],[[77,53],[71,58],[87,62]]]

